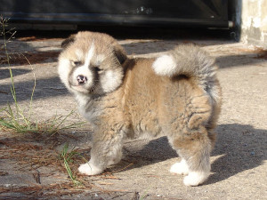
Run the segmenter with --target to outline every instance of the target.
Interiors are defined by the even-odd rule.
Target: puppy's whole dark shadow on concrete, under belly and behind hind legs
[[[239,172],[263,164],[267,155],[267,131],[251,125],[222,124],[216,129],[217,142],[212,157],[212,172],[204,185],[226,180]],[[144,148],[132,151],[126,148],[125,159],[134,163],[125,170],[142,167],[177,157],[166,137],[151,140]],[[124,160],[111,171],[122,168]]]

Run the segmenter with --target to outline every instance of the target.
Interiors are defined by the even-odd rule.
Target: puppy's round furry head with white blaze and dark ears
[[[62,42],[59,75],[70,92],[102,94],[122,84],[124,49],[106,34],[79,32]]]

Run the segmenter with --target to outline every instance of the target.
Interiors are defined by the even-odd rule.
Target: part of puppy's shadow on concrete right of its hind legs
[[[252,170],[266,160],[267,130],[255,129],[248,124],[222,124],[216,131],[218,139],[212,156],[218,158],[212,163],[214,173],[206,184]]]

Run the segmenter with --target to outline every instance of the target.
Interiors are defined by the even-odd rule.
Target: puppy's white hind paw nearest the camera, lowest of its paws
[[[198,186],[203,183],[209,175],[209,172],[190,172],[184,177],[183,183],[186,186]]]

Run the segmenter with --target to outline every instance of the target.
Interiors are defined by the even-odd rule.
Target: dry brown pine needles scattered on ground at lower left
[[[3,137],[4,136],[4,137]],[[57,134],[44,140],[44,136],[36,137],[36,134],[5,134],[0,139],[0,159],[8,159],[18,166],[15,172],[27,172],[29,176],[33,176],[35,182],[28,183],[28,187],[1,187],[0,197],[6,193],[21,193],[27,197],[38,196],[67,196],[80,193],[88,193],[98,191],[101,194],[128,193],[127,190],[106,190],[100,186],[113,185],[109,180],[120,180],[113,175],[113,172],[124,171],[133,163],[125,165],[122,169],[113,172],[104,172],[99,176],[87,177],[77,172],[79,164],[89,160],[91,148],[69,150],[67,156],[72,154],[72,161],[69,161],[69,168],[76,180],[80,184],[76,184],[70,177],[67,176],[66,166],[61,157],[62,151],[55,150],[64,140],[69,138],[69,135]],[[75,152],[75,153],[73,153]],[[46,167],[49,172],[41,172]],[[65,175],[58,175],[65,174]],[[0,172],[0,176],[7,176],[8,172]],[[51,183],[45,185],[42,183],[44,177],[57,177],[60,183]],[[23,181],[23,180],[22,180]],[[27,181],[25,181],[27,182]],[[51,181],[53,182],[53,181]],[[97,186],[98,185],[98,186]]]

